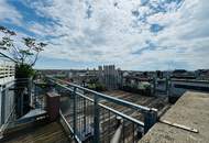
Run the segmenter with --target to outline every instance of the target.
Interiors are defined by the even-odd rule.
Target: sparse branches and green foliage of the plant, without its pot
[[[15,38],[15,32],[1,25],[0,32],[3,35],[0,40],[0,54],[15,62],[18,76],[29,77],[34,74],[32,67],[47,44],[32,37]]]

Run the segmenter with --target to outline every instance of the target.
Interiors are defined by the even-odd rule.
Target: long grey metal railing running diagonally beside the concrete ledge
[[[68,92],[61,98],[61,117],[77,142],[134,143],[157,120],[156,109],[59,79],[50,77],[47,79],[61,96],[62,92]]]

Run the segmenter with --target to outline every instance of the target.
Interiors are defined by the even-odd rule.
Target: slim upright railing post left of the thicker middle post
[[[77,135],[77,98],[76,98],[76,87],[74,87],[73,91],[73,100],[74,100],[74,136]]]

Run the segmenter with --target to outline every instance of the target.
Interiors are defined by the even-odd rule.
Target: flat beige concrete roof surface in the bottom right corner
[[[157,122],[139,143],[207,143],[209,94],[187,91],[160,120],[196,129],[198,133]]]

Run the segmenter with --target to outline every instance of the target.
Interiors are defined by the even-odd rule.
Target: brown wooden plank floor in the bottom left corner
[[[68,143],[69,140],[58,122],[33,125],[6,135],[1,143]]]

